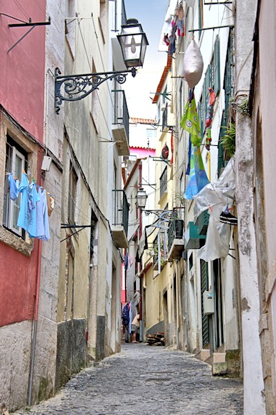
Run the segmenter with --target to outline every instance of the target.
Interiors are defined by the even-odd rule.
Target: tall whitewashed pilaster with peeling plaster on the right
[[[253,28],[257,1],[236,1],[235,71],[237,102],[249,91],[253,62]],[[250,118],[236,114],[236,198],[239,217],[239,271],[242,304],[242,350],[244,360],[244,414],[262,415],[264,380],[259,339],[259,286],[255,225],[253,221],[253,137]]]

